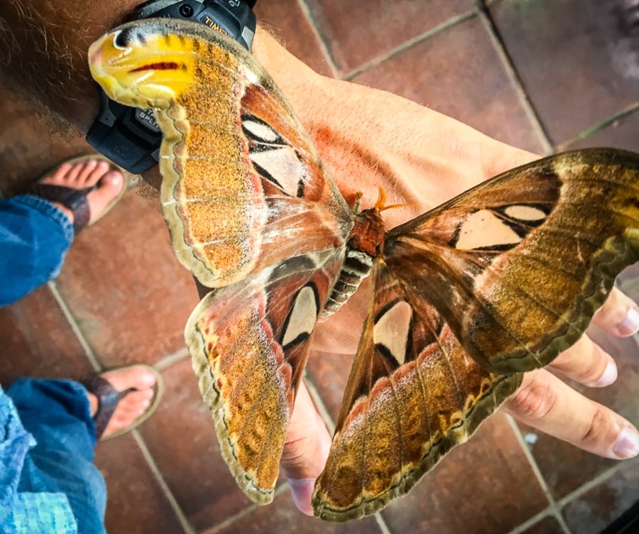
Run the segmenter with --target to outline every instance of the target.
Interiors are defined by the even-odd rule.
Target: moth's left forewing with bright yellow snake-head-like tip
[[[234,40],[149,19],[107,33],[89,64],[109,97],[155,109],[163,215],[202,285],[344,244],[351,210],[271,76]]]

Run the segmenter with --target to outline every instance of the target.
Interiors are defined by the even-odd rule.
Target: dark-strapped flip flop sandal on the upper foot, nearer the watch
[[[80,231],[84,229],[84,227],[98,222],[99,219],[102,219],[104,215],[111,211],[111,209],[124,196],[129,182],[131,182],[131,173],[111,162],[111,160],[105,158],[104,156],[102,156],[102,154],[96,153],[87,154],[86,156],[78,156],[77,158],[65,160],[62,163],[75,165],[77,163],[85,163],[92,160],[106,161],[107,163],[109,163],[111,170],[119,170],[124,176],[124,185],[118,195],[114,198],[114,200],[111,200],[107,207],[102,210],[102,213],[100,213],[90,223],[89,219],[91,218],[91,212],[89,209],[89,202],[87,201],[87,195],[89,194],[89,192],[97,188],[97,184],[92,187],[86,187],[84,189],[74,189],[73,187],[65,187],[63,185],[43,184],[40,182],[36,182],[33,187],[31,187],[31,190],[29,190],[30,195],[35,195],[36,197],[50,200],[50,202],[60,202],[60,204],[70,209],[73,214],[73,230],[75,231],[75,235],[79,234]],[[62,165],[62,163],[56,165],[56,168]],[[50,172],[51,171],[49,171],[49,173]]]

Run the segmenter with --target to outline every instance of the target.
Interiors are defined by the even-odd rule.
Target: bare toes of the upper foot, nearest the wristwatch
[[[118,170],[111,170],[109,163],[101,160],[89,160],[82,163],[62,163],[52,173],[39,180],[40,183],[62,185],[72,189],[84,189],[99,183],[97,188],[87,195],[89,202],[90,221],[96,219],[104,208],[114,200],[124,187],[124,176]],[[73,222],[73,214],[70,209],[53,202]]]

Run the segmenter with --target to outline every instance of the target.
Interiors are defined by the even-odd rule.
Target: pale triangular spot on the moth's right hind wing
[[[405,300],[398,300],[383,310],[373,324],[373,343],[396,365],[405,364],[412,319],[413,308]]]

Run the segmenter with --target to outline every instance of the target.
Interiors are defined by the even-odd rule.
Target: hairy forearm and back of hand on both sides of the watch
[[[81,131],[98,111],[87,49],[123,22],[139,0],[114,6],[86,0],[0,0],[4,78]],[[530,159],[473,129],[396,95],[317,75],[258,28],[253,54],[280,85],[310,131],[342,192],[372,205],[381,187],[389,226]],[[501,156],[503,153],[503,156]],[[157,170],[146,178],[159,184]]]

